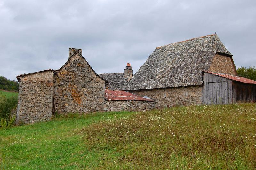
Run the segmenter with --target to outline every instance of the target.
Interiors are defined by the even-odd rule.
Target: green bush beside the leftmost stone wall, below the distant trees
[[[15,116],[12,118],[12,110],[16,108],[18,97],[6,97],[0,94],[0,128],[8,129],[14,125]]]

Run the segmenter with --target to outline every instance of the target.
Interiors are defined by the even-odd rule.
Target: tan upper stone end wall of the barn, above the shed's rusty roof
[[[209,69],[210,72],[225,73],[236,76],[236,67],[233,59],[228,56],[216,54]]]

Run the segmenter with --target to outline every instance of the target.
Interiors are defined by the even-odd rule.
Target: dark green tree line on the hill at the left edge
[[[16,91],[19,90],[18,81],[9,80],[4,76],[0,76],[0,89],[6,91]]]

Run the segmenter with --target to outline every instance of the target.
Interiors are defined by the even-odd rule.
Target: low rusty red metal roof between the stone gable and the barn
[[[121,91],[121,90],[105,90],[105,99],[108,101],[113,100],[140,100],[140,101],[149,101],[154,102],[149,98],[143,98],[136,94],[133,94],[128,91]]]

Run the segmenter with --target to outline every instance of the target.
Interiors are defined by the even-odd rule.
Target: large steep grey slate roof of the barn
[[[202,84],[216,53],[232,56],[216,34],[157,47],[120,90],[155,89]]]

